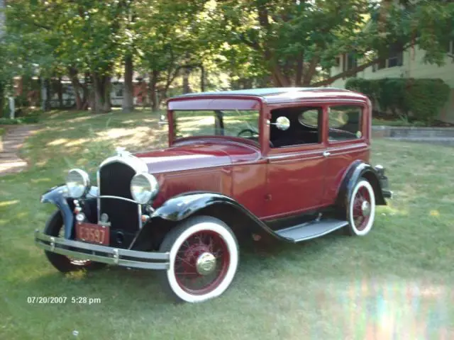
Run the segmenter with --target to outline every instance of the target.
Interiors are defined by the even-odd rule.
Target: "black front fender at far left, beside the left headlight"
[[[98,188],[92,186],[87,198],[93,198],[97,195]],[[65,184],[60,186],[54,186],[48,191],[41,195],[41,203],[52,203],[57,206],[57,208],[62,213],[63,223],[65,225],[65,239],[72,239],[72,230],[74,225],[74,203],[72,203],[72,198],[68,197],[68,191]]]

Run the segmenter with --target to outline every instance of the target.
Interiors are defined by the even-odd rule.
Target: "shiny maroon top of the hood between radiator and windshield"
[[[152,174],[232,164],[225,145],[182,145],[135,156],[147,164],[148,171]]]

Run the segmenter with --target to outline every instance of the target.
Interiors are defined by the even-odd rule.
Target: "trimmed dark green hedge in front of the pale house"
[[[449,98],[450,87],[441,79],[350,78],[345,89],[362,92],[380,111],[396,118],[412,118],[431,124]]]

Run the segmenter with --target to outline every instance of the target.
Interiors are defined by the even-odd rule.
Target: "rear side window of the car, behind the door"
[[[362,106],[331,106],[328,113],[328,140],[358,140],[362,137]]]

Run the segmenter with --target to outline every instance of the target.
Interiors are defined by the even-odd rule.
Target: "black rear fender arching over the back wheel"
[[[364,177],[369,181],[375,193],[375,204],[386,205],[384,200],[382,185],[380,183],[380,174],[373,166],[362,161],[355,161],[345,171],[345,175],[338,190],[336,205],[341,208],[346,208],[349,205],[349,200],[353,192],[353,188],[358,180]]]

